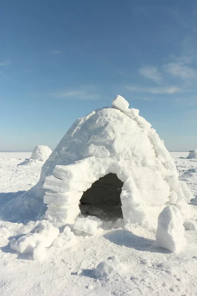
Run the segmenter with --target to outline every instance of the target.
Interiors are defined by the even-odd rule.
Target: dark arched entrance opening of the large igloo
[[[81,213],[111,221],[123,218],[120,199],[122,186],[123,182],[116,174],[99,178],[83,193],[79,204]]]

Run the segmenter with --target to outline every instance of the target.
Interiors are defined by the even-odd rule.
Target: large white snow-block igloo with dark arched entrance
[[[37,197],[57,225],[83,215],[157,227],[159,213],[193,198],[151,124],[117,96],[77,119],[42,167]],[[113,217],[112,217],[113,216]]]

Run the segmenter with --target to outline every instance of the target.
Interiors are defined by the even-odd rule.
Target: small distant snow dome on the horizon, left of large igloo
[[[45,145],[36,146],[33,149],[31,158],[26,159],[24,162],[19,163],[18,165],[34,165],[39,162],[43,163],[49,158],[51,153],[52,153],[52,150],[48,146],[45,146]]]

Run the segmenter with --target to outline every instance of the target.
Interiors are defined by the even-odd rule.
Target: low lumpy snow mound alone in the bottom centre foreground
[[[95,276],[97,278],[113,277],[118,275],[123,277],[128,270],[126,263],[119,261],[115,256],[112,256],[108,261],[100,262],[95,268]]]

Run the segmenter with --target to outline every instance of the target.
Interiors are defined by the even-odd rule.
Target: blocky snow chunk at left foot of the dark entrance
[[[97,233],[97,227],[98,222],[88,218],[77,218],[73,225],[75,230],[83,231],[93,235]]]

